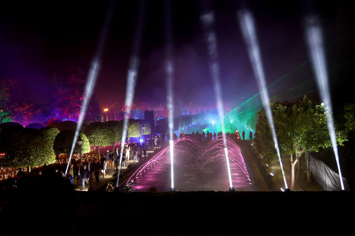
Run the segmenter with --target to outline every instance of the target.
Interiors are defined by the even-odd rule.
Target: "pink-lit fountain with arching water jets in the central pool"
[[[206,146],[191,137],[174,141],[175,189],[179,191],[225,191],[229,188],[228,173],[225,168],[223,139],[212,140]],[[239,190],[253,191],[241,150],[234,141],[226,137],[231,181]],[[126,191],[148,191],[155,187],[158,191],[170,189],[170,145],[152,157],[127,180]],[[122,188],[121,188],[122,189]]]

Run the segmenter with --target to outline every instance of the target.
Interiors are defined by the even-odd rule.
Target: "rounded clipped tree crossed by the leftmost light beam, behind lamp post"
[[[67,154],[70,155],[71,146],[74,139],[75,130],[74,129],[66,129],[61,131],[54,139],[53,149],[55,154]],[[86,135],[82,132],[79,133],[81,139],[84,141],[81,145],[82,153],[90,152],[90,144]],[[80,146],[76,143],[75,140],[75,148],[73,154],[80,153]]]

